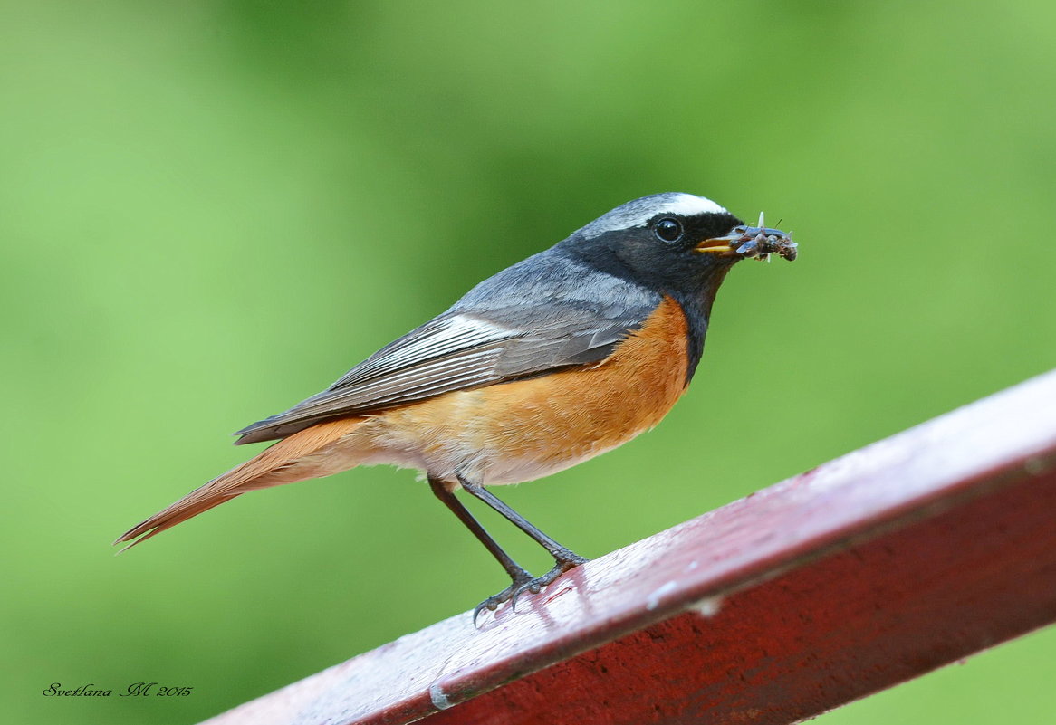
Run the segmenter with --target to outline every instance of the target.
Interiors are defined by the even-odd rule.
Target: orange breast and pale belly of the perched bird
[[[364,462],[454,480],[516,483],[573,465],[656,425],[686,384],[686,321],[665,298],[603,362],[458,390],[386,411],[364,426]]]

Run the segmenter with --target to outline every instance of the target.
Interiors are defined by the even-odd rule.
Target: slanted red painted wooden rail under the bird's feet
[[[790,723],[1056,621],[1056,371],[208,722]]]

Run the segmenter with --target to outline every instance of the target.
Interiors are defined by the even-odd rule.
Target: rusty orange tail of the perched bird
[[[128,530],[114,543],[132,541],[125,547],[129,549],[247,491],[328,476],[351,469],[358,463],[355,445],[341,446],[340,455],[335,455],[336,449],[341,439],[363,420],[342,418],[295,433]]]

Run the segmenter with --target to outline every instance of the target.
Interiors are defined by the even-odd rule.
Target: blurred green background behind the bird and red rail
[[[193,722],[505,586],[390,469],[109,543],[252,453],[232,431],[629,198],[765,209],[802,256],[731,275],[657,431],[502,492],[585,555],[1056,361],[1051,2],[0,14],[3,722]],[[1054,657],[1050,629],[821,722],[1043,722]],[[137,681],[194,692],[40,694]]]

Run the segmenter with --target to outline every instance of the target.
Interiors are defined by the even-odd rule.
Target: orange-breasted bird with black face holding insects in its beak
[[[322,393],[235,435],[276,440],[115,541],[133,546],[248,491],[392,463],[433,493],[498,559],[509,587],[474,611],[538,592],[586,559],[486,486],[561,471],[658,422],[700,362],[715,293],[744,257],[794,260],[777,229],[749,227],[701,196],[617,207],[504,269]],[[461,488],[554,559],[532,577],[455,497]]]

